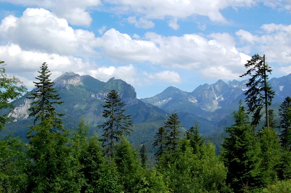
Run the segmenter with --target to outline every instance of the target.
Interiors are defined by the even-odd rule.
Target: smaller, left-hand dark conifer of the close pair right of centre
[[[155,153],[156,160],[159,161],[162,154],[165,153],[166,150],[166,137],[167,133],[164,127],[160,127],[158,129],[158,132],[155,135],[156,140],[153,143],[153,146],[158,146],[158,151]]]

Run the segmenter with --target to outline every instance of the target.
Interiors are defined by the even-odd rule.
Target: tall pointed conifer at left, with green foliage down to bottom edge
[[[40,68],[36,78],[39,82],[34,82],[36,90],[28,97],[33,100],[30,116],[35,116],[34,124],[38,120],[39,123],[30,127],[27,134],[30,140],[27,192],[79,192],[82,180],[78,178],[78,167],[75,167],[75,159],[66,145],[68,133],[59,117],[64,114],[55,112],[54,107],[63,101],[59,100],[53,82],[49,80],[48,65],[43,63]]]

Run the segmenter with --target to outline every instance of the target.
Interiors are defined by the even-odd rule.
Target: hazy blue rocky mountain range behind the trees
[[[114,78],[103,82],[89,75],[80,76],[68,72],[54,80],[53,86],[65,101],[56,107],[56,111],[65,113],[63,121],[67,128],[76,127],[84,115],[91,133],[100,134],[96,126],[104,121],[101,116],[101,104],[104,102],[104,96],[115,89],[127,104],[127,113],[132,114],[135,123],[131,141],[152,143],[156,130],[163,125],[170,113],[178,113],[185,129],[189,129],[197,119],[202,134],[227,126],[222,124],[225,122],[224,118],[236,110],[240,99],[245,98],[243,93],[247,90],[246,83],[247,80],[218,80],[210,85],[200,85],[193,92],[170,86],[156,96],[141,99],[136,97],[135,89],[131,85]],[[273,78],[270,83],[276,92],[273,104],[290,96],[291,74]],[[15,118],[15,122],[7,124],[9,132],[23,138],[28,131],[27,126],[32,125],[32,119],[28,117],[27,112],[32,101],[26,96],[13,102],[16,107],[9,116]]]

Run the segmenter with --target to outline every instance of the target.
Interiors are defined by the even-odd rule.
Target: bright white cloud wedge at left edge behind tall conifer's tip
[[[28,86],[33,85],[32,79],[38,75],[37,70],[44,62],[49,64],[52,80],[71,71],[69,69],[74,69],[74,72],[84,72],[92,67],[89,63],[83,62],[81,58],[26,51],[15,44],[0,46],[0,57],[7,64],[5,65],[7,73],[16,75]]]

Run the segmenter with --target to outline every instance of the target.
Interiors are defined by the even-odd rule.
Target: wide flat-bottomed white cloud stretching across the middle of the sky
[[[132,39],[115,29],[97,38],[97,46],[106,56],[119,62],[150,62],[167,67],[203,71],[222,66],[219,77],[241,74],[248,56],[235,47],[234,38],[228,33],[212,33],[209,36],[184,34],[162,36],[146,33],[146,40]],[[208,76],[208,74],[206,74]]]

